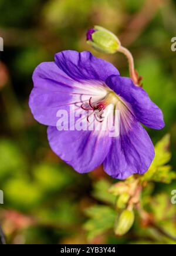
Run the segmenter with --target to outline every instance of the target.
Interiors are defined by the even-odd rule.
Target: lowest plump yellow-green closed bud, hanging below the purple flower
[[[115,234],[116,235],[124,235],[126,234],[134,223],[134,212],[131,210],[124,210],[119,218],[117,218],[115,224]]]

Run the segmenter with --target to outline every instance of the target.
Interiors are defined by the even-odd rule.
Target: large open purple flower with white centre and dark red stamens
[[[154,147],[140,123],[162,129],[163,113],[141,87],[121,77],[113,65],[90,52],[65,50],[55,55],[55,62],[41,63],[35,69],[33,83],[29,99],[33,116],[49,126],[50,147],[76,171],[87,173],[103,163],[111,177],[124,179],[148,170]],[[86,112],[86,106],[103,109],[104,117],[113,105],[120,110],[120,136],[110,137],[104,130],[58,131],[57,111],[69,112],[71,105],[80,113]]]

